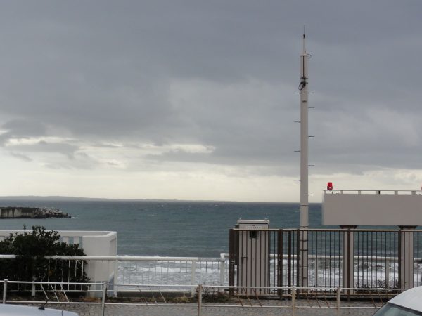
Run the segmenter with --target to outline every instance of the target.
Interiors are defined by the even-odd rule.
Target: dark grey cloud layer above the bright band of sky
[[[199,143],[215,150],[147,157],[294,173],[306,24],[315,171],[420,168],[421,14],[419,1],[2,4],[0,114],[18,121],[3,120],[1,140]],[[176,102],[179,83],[205,88]]]

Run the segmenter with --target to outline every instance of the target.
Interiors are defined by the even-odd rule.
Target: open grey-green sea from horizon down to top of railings
[[[229,250],[238,218],[264,219],[270,228],[298,228],[298,203],[186,201],[7,201],[0,206],[56,207],[72,218],[1,219],[0,230],[41,225],[48,230],[113,230],[117,254],[218,257]],[[321,204],[310,204],[309,227],[321,228]]]

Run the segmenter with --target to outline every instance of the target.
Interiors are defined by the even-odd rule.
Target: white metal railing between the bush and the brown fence
[[[60,282],[80,281],[86,273],[87,278],[98,282],[119,284],[178,284],[224,285],[229,271],[226,269],[227,254],[219,258],[165,257],[165,256],[46,256],[47,269],[57,270],[58,266],[82,265],[79,275],[62,275]],[[15,255],[0,255],[1,259],[12,260]],[[64,269],[62,269],[64,270]],[[50,273],[46,273],[50,276]],[[51,282],[50,277],[46,282]],[[18,286],[15,291],[33,291]],[[75,289],[80,291],[81,289]],[[130,289],[128,289],[130,290]],[[115,287],[115,295],[119,289]]]

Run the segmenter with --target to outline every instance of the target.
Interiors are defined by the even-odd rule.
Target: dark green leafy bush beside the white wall
[[[14,254],[15,259],[0,259],[0,279],[13,281],[88,282],[84,261],[46,259],[45,256],[84,256],[77,244],[59,242],[54,230],[23,227],[23,234],[11,234],[0,242],[0,254]]]

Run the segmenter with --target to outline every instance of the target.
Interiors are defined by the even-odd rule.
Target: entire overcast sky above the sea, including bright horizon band
[[[1,1],[0,195],[420,190],[422,1]]]

